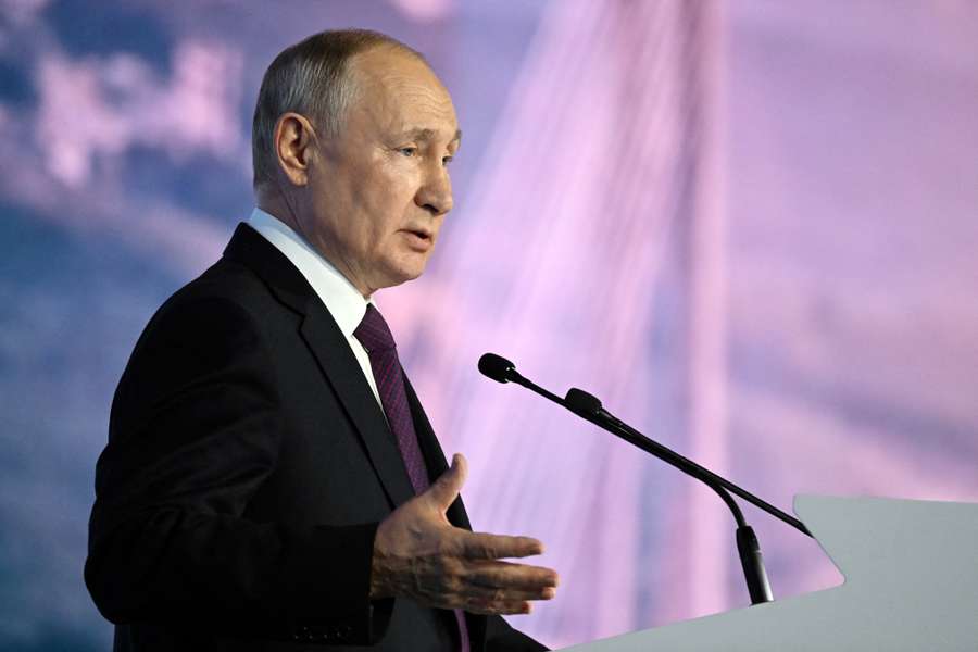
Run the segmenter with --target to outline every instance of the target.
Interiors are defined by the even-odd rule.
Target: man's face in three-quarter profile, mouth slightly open
[[[364,294],[421,276],[452,208],[460,131],[448,91],[410,54],[356,55],[359,93],[336,138],[319,136],[302,231]]]

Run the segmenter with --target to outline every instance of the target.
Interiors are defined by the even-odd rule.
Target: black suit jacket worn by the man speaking
[[[408,396],[435,478],[444,455]],[[139,338],[96,494],[85,579],[115,650],[457,649],[451,612],[368,599],[377,524],[411,482],[339,327],[247,225]],[[461,500],[449,518],[469,527]],[[466,618],[474,650],[543,649]]]

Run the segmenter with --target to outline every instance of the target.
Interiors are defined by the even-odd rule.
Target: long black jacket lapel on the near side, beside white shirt
[[[363,371],[339,326],[302,274],[278,249],[239,224],[225,256],[258,274],[285,304],[303,315],[300,335],[363,441],[391,505],[414,496],[401,452],[377,405]],[[324,429],[328,424],[323,424]],[[429,426],[430,427],[430,426]]]

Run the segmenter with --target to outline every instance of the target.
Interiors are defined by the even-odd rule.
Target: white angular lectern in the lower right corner
[[[839,587],[567,650],[978,652],[978,504],[799,496]]]

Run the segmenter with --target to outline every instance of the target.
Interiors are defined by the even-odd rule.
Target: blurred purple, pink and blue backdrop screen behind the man
[[[347,26],[423,51],[465,130],[439,251],[377,300],[475,527],[562,575],[514,625],[749,599],[716,496],[485,351],[785,510],[978,501],[978,3],[2,0],[0,648],[110,648],[82,567],[115,384],[250,213],[265,67]],[[842,580],[745,512],[777,598]]]

